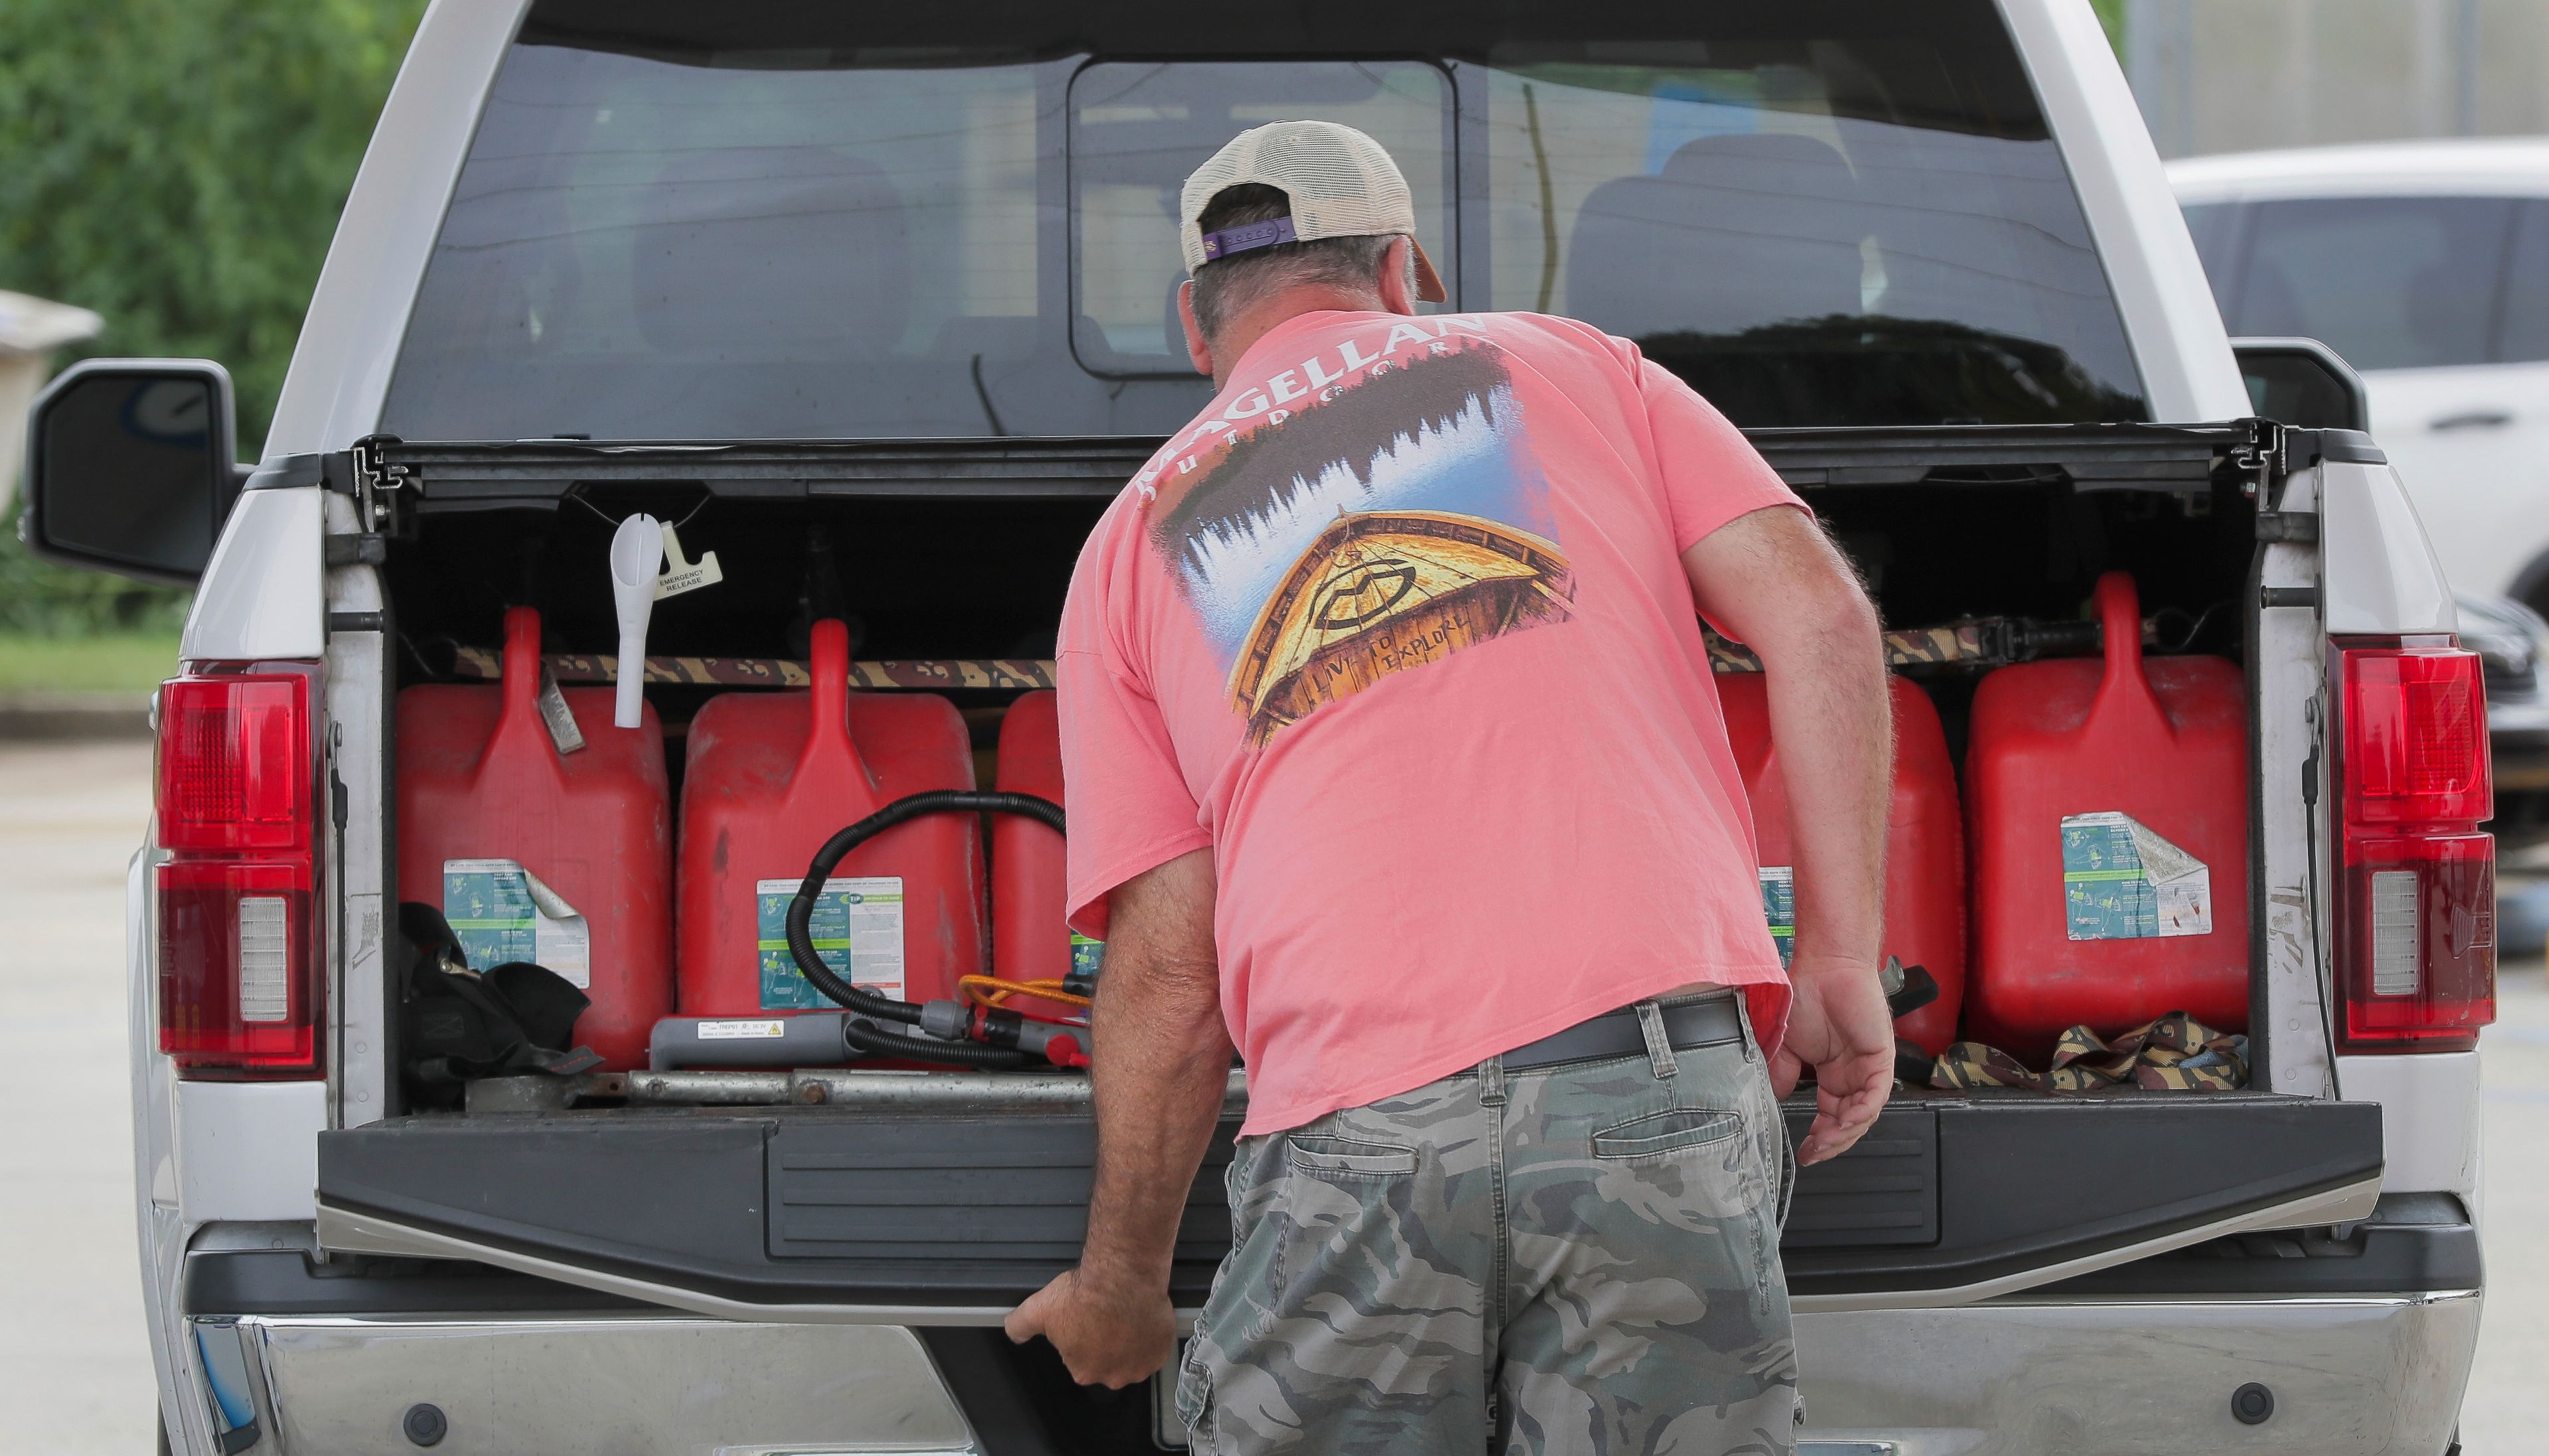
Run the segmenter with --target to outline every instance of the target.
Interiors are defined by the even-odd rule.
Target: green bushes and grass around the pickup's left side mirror
[[[0,0],[0,288],[199,354],[255,454],[423,0]],[[66,362],[66,360],[64,360]],[[0,625],[163,622],[184,594],[0,546]]]

